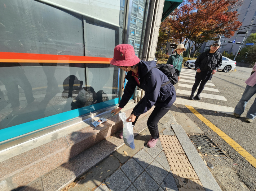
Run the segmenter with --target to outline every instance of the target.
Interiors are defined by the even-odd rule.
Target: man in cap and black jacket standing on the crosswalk
[[[195,74],[195,83],[192,87],[192,92],[189,99],[201,99],[200,93],[203,91],[207,81],[212,79],[212,75],[215,74],[221,66],[222,55],[220,52],[218,52],[219,48],[220,41],[214,41],[210,46],[210,49],[200,54],[195,61],[195,70],[197,73]],[[200,86],[198,88],[197,95],[194,97],[195,90],[197,90],[199,84]]]

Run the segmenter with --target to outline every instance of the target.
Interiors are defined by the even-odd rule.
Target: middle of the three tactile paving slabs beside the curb
[[[185,154],[165,153],[165,155],[171,167],[173,177],[198,179],[197,174]]]

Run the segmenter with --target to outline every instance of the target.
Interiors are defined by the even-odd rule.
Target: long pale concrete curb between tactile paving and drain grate
[[[194,145],[191,143],[189,137],[187,136],[182,126],[171,126],[178,140],[180,141],[180,144],[184,149],[187,158],[189,159],[195,172],[197,173],[197,176],[199,177],[199,180],[201,181],[204,189],[206,191],[221,191],[220,186],[212,176],[212,173],[209,171],[208,167],[203,162],[203,159],[198,154],[197,149],[195,149]]]

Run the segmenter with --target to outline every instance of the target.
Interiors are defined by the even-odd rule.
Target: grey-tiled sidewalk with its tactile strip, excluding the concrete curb
[[[181,191],[204,188],[176,136],[160,135],[160,141],[154,148],[144,146],[95,191],[110,190]]]

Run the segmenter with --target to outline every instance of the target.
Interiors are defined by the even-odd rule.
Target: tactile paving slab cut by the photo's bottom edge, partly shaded
[[[179,185],[179,191],[188,191],[188,190],[197,190],[197,191],[205,191],[202,183],[199,180],[189,180],[185,178],[177,178]]]

